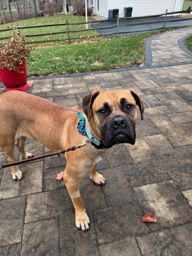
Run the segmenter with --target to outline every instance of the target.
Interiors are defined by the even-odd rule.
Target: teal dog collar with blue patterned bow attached
[[[83,114],[81,112],[77,112],[77,116],[78,116],[78,118],[80,118],[80,121],[78,122],[78,126],[77,126],[78,132],[80,134],[87,136],[89,138],[90,142],[92,142],[96,146],[100,146],[101,144],[103,144],[101,140],[96,139],[92,135],[92,133],[89,130],[88,125],[86,124],[86,120],[85,120]]]

